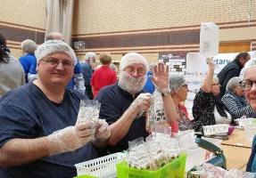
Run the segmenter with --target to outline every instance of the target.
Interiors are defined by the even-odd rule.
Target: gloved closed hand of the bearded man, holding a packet
[[[136,100],[130,105],[131,109],[136,110],[137,113],[145,111],[153,104],[153,96],[150,93],[140,93]]]

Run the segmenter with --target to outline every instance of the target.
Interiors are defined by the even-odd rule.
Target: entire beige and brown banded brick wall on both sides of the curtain
[[[200,23],[212,21],[220,28],[220,53],[256,50],[255,0],[75,0],[73,41],[85,41],[76,50],[143,53],[150,61],[158,53],[186,54],[199,51]],[[15,57],[20,44],[45,36],[45,0],[1,0],[0,33],[8,39]]]

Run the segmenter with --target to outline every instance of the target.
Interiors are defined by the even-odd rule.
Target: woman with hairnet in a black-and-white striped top
[[[227,83],[227,91],[221,99],[231,114],[232,119],[253,116],[252,107],[245,100],[244,90],[240,82],[241,77],[231,78]]]

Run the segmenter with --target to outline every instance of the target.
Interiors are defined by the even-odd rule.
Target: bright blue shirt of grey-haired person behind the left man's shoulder
[[[26,83],[28,83],[28,74],[37,74],[37,58],[34,53],[28,53],[21,56],[20,62],[25,72]]]

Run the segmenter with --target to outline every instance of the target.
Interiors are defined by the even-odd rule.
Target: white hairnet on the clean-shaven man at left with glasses
[[[51,53],[66,53],[74,61],[74,65],[77,64],[78,60],[76,54],[69,44],[62,42],[61,40],[47,40],[44,44],[37,47],[35,55],[37,57],[37,62],[43,59],[45,56]]]

